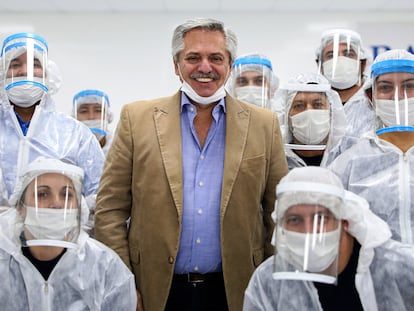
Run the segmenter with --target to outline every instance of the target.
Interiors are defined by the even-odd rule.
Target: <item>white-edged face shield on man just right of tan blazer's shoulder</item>
[[[287,84],[285,146],[297,150],[324,150],[331,130],[329,84]]]

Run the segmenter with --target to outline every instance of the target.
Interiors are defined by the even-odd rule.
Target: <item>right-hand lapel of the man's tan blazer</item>
[[[250,113],[233,97],[226,96],[226,153],[221,194],[221,217],[223,217],[246,147]]]

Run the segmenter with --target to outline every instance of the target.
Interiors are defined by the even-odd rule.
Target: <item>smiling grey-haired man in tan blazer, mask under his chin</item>
[[[277,115],[224,90],[236,47],[220,21],[186,21],[172,42],[181,90],[122,109],[95,234],[133,271],[139,310],[241,310],[273,254],[287,164]]]

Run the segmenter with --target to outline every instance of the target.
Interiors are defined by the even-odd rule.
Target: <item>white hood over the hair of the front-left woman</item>
[[[10,198],[10,205],[16,206],[30,182],[35,177],[46,173],[59,173],[69,177],[75,187],[77,198],[81,199],[84,176],[82,168],[58,159],[40,157],[23,169],[23,173],[19,176],[13,195]]]

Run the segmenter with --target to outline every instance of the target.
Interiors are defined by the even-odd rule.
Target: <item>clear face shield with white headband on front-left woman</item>
[[[80,232],[83,171],[55,159],[29,164],[15,198],[22,246],[73,248]]]

